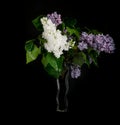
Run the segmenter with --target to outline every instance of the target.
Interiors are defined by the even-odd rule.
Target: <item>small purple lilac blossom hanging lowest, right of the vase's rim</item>
[[[81,75],[81,70],[79,65],[72,65],[71,66],[71,77],[78,78]]]

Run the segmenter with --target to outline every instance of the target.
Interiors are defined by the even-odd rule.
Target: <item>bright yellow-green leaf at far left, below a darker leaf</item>
[[[38,48],[35,44],[33,45],[33,49],[31,51],[26,50],[26,64],[37,59],[40,53],[41,53],[41,48],[40,47]]]

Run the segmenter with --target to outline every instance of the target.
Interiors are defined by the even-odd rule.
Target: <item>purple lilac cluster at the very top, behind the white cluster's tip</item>
[[[47,14],[47,18],[51,19],[52,23],[54,23],[56,26],[62,23],[61,15],[57,14],[57,12],[54,12],[52,14]]]

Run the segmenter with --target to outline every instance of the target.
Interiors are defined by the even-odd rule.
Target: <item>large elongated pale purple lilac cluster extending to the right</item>
[[[113,53],[115,50],[113,38],[109,34],[94,35],[92,33],[88,34],[86,32],[82,32],[78,48],[82,51],[88,47],[92,47],[98,52],[104,51],[106,53]]]

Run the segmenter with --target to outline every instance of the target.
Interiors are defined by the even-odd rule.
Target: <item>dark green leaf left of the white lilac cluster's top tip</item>
[[[38,31],[40,31],[40,32],[43,31],[43,26],[42,26],[41,21],[40,21],[40,18],[41,18],[41,17],[42,17],[42,15],[41,15],[41,16],[38,16],[37,18],[35,18],[34,20],[32,20],[33,25],[34,25],[35,28],[36,28]]]

